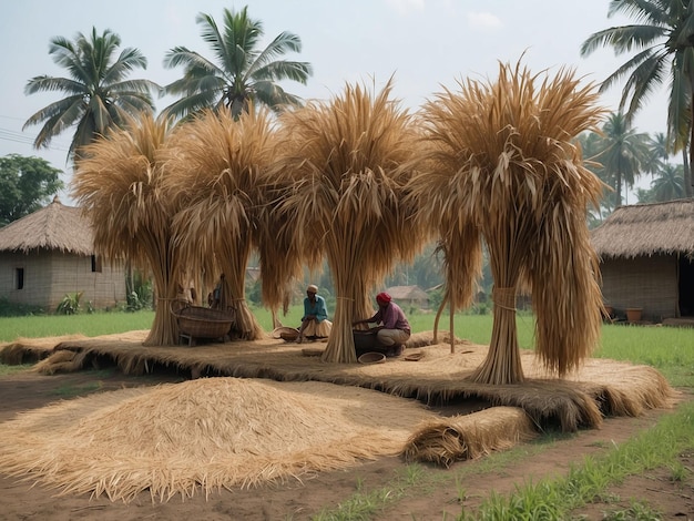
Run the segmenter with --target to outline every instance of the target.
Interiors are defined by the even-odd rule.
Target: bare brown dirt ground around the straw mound
[[[82,371],[70,375],[40,376],[17,374],[0,378],[0,421],[11,419],[18,412],[39,408],[50,402],[84,396],[94,391],[114,390],[123,387],[149,386],[160,382],[181,381],[176,375],[150,375],[129,377],[114,371]],[[685,399],[692,399],[691,396]],[[449,406],[442,413],[479,408],[466,402]],[[581,431],[574,436],[561,436],[559,441],[544,445],[540,450],[529,446],[528,456],[498,469],[456,474],[465,466],[459,462],[450,469],[423,467],[427,474],[415,479],[419,483],[436,483],[406,489],[402,497],[389,503],[374,519],[378,520],[443,520],[456,519],[465,510],[473,509],[491,491],[507,493],[523,482],[537,482],[545,476],[565,472],[572,461],[579,462],[586,454],[596,454],[613,443],[633,436],[653,425],[667,410],[651,411],[640,418],[606,419],[600,430]],[[599,520],[604,513],[627,509],[633,501],[645,501],[662,512],[664,520],[694,520],[694,447],[681,454],[682,463],[690,470],[683,481],[671,480],[667,469],[659,469],[649,476],[629,479],[609,491],[609,502],[592,503],[574,512],[575,519]],[[61,496],[31,482],[1,474],[1,520],[307,520],[324,509],[335,508],[349,499],[357,490],[371,491],[392,486],[407,479],[407,466],[398,458],[382,458],[365,462],[350,470],[303,477],[252,490],[221,491],[208,498],[196,496],[182,501],[176,498],[166,503],[153,503],[147,493],[134,502],[111,502],[108,498],[90,499],[89,496]],[[461,496],[463,497],[461,499]],[[579,518],[582,517],[582,518]],[[360,518],[361,519],[361,518]],[[629,518],[620,518],[629,519]]]

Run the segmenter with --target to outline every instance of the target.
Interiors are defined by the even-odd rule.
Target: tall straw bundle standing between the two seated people
[[[374,313],[369,293],[423,244],[404,202],[409,174],[400,170],[417,132],[391,90],[391,81],[375,94],[346,85],[329,102],[280,116],[275,173],[289,182],[278,213],[310,266],[325,255],[337,294],[325,361],[356,361],[353,319]]]

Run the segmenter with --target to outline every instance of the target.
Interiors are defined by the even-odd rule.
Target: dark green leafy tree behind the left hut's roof
[[[40,157],[0,157],[0,226],[50,203],[50,197],[63,187],[61,173]]]

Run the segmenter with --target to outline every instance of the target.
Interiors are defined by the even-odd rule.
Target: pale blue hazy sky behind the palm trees
[[[248,6],[252,18],[264,23],[269,41],[282,31],[302,38],[304,49],[292,59],[308,61],[314,76],[308,85],[285,88],[305,99],[328,99],[345,82],[382,85],[391,75],[395,95],[416,110],[458,79],[497,75],[498,62],[523,63],[533,72],[574,68],[585,81],[600,82],[624,57],[601,50],[579,55],[583,40],[624,19],[608,19],[608,0],[22,0],[0,7],[0,155],[37,155],[65,170],[70,135],[54,140],[48,151],[31,146],[39,126],[22,132],[23,122],[55,101],[58,94],[23,93],[27,81],[39,74],[64,75],[48,54],[51,38],[72,39],[76,32],[111,29],[123,47],[140,49],[149,60],[146,78],[166,84],[180,70],[162,65],[164,54],[186,45],[212,58],[200,37],[200,12],[221,21],[224,8]],[[616,110],[620,89],[603,96]],[[160,100],[161,109],[167,101]],[[666,121],[666,93],[660,92],[636,120],[642,132],[661,132]],[[69,181],[69,174],[65,176]]]

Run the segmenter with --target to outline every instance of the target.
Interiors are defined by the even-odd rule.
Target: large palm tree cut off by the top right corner
[[[591,34],[581,55],[610,45],[615,53],[634,53],[602,83],[601,91],[626,79],[620,110],[629,105],[631,120],[649,96],[667,79],[667,141],[673,151],[688,146],[694,165],[694,3],[683,0],[611,0],[608,16],[623,13],[636,23],[612,27]],[[686,172],[686,193],[692,196],[694,178]]]

